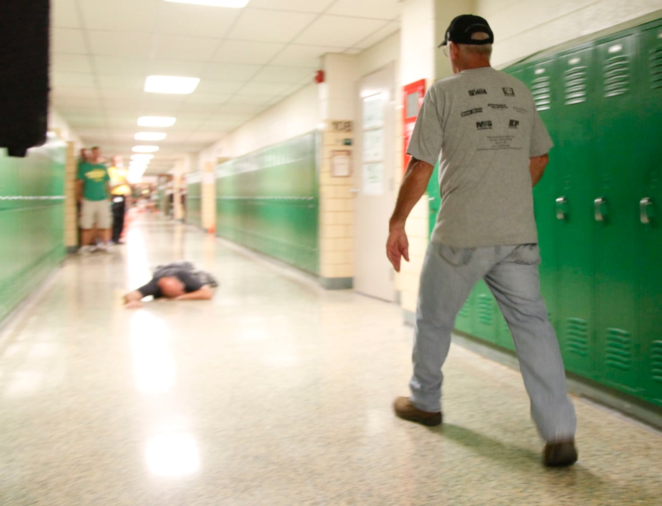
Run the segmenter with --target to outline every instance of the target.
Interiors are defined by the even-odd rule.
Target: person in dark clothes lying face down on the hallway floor
[[[142,307],[142,299],[152,295],[154,299],[164,297],[175,301],[202,301],[214,296],[218,286],[214,277],[197,270],[191,262],[173,262],[158,266],[150,282],[124,295],[124,307]]]

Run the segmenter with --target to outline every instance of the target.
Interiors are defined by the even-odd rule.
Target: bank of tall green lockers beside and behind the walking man
[[[662,406],[662,20],[506,72],[555,144],[534,201],[565,367]],[[513,348],[483,281],[455,328]]]

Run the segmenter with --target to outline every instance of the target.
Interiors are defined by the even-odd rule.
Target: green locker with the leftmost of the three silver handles
[[[594,253],[592,249],[595,151],[594,50],[565,52],[557,59],[552,85],[560,100],[557,115],[563,132],[555,138],[555,229],[557,262],[557,336],[567,370],[596,377],[596,344],[592,322]]]

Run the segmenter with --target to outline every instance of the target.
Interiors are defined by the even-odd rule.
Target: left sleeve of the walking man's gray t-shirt
[[[444,142],[443,100],[443,95],[439,96],[433,88],[428,89],[407,146],[407,154],[432,166],[436,165]]]

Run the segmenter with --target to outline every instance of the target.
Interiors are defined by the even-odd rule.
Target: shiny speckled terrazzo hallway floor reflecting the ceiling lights
[[[399,307],[322,291],[199,230],[136,219],[71,257],[0,334],[0,505],[661,505],[662,435],[575,399],[580,460],[548,470],[518,372],[452,346],[444,425],[396,419]],[[149,268],[213,301],[120,305]]]

